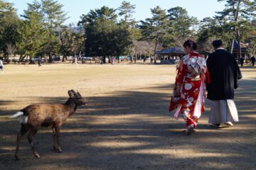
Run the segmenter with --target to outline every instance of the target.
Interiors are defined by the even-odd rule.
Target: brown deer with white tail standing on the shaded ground
[[[73,89],[68,91],[68,101],[65,103],[38,103],[26,106],[11,115],[10,118],[18,118],[21,130],[17,135],[15,158],[18,160],[18,150],[21,139],[28,133],[28,142],[36,158],[40,158],[33,145],[33,138],[41,127],[51,126],[53,130],[53,149],[62,152],[60,148],[60,127],[70,115],[73,115],[78,106],[86,104],[85,98]]]

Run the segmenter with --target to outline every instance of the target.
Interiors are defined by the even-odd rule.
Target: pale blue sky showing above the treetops
[[[19,15],[23,14],[23,10],[27,8],[27,3],[33,0],[5,0],[14,4]],[[118,8],[123,0],[58,0],[59,4],[63,4],[63,11],[68,12],[68,23],[78,23],[82,14],[87,14],[90,9],[108,6],[110,8]],[[176,6],[186,8],[189,16],[197,17],[202,20],[206,17],[215,15],[215,11],[223,11],[224,2],[217,0],[125,0],[136,6],[134,18],[137,21],[151,17],[150,8],[160,6],[168,10]]]

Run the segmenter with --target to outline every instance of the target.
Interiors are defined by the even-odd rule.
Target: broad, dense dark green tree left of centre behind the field
[[[116,9],[102,6],[83,15],[79,26],[85,29],[85,53],[89,56],[127,55],[132,44],[129,28],[117,22]]]

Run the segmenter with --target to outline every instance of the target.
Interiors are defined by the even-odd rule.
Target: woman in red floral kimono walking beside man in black
[[[210,83],[210,79],[206,60],[195,51],[196,43],[187,40],[183,47],[187,55],[182,57],[178,65],[169,111],[176,109],[176,119],[178,114],[182,113],[186,121],[186,135],[191,135],[203,113],[206,84]]]

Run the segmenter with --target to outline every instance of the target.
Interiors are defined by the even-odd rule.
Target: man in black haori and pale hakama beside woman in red
[[[238,122],[238,111],[233,101],[234,89],[238,88],[238,79],[242,74],[235,57],[223,48],[221,40],[214,40],[215,52],[207,60],[210,84],[207,84],[207,98],[211,101],[208,123],[219,127],[220,123],[233,125]]]

